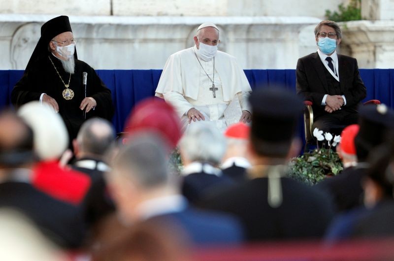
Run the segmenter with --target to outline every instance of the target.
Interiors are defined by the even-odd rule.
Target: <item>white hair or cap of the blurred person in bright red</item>
[[[18,115],[33,130],[34,152],[44,161],[59,159],[68,146],[62,117],[46,103],[32,101],[21,106]]]

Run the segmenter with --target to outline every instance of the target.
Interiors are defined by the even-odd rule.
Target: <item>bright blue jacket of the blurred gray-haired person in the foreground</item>
[[[188,207],[150,220],[177,225],[197,245],[237,244],[244,239],[242,225],[236,218],[211,211]]]

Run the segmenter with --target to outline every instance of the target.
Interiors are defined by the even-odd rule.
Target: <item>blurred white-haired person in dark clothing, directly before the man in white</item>
[[[233,185],[219,164],[226,152],[223,134],[211,122],[190,125],[179,142],[184,168],[182,194],[196,203],[215,189]]]

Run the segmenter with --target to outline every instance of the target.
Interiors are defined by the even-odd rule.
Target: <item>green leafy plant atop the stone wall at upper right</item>
[[[338,12],[326,10],[326,18],[335,22],[361,20],[361,0],[351,0],[349,5],[338,5]]]

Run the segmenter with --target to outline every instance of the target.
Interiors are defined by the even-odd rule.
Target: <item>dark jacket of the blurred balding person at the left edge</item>
[[[13,208],[30,218],[52,242],[78,248],[85,227],[78,207],[56,200],[23,182],[0,184],[0,207]]]

